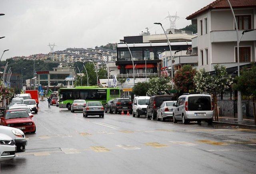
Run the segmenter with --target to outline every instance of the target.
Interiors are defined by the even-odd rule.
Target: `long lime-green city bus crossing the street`
[[[75,88],[60,88],[60,108],[68,108],[76,99],[86,102],[99,101],[104,106],[109,100],[120,98],[119,88],[99,88],[98,86],[76,86]]]

